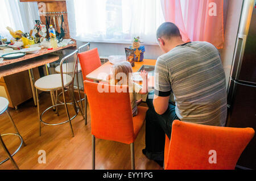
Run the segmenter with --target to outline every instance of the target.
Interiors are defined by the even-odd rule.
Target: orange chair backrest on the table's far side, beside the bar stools
[[[90,79],[86,79],[86,75],[101,66],[98,49],[94,48],[86,52],[79,53],[78,58],[82,69],[82,77],[84,80],[92,81]]]

